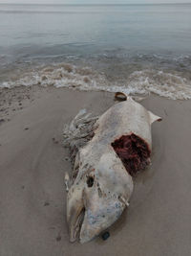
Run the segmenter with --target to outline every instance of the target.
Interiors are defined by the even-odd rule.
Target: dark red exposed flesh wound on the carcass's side
[[[148,144],[134,133],[121,136],[112,147],[130,175],[136,175],[150,163]]]

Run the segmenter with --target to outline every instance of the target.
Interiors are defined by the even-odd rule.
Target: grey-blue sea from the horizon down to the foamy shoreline
[[[0,87],[191,99],[191,4],[0,4]]]

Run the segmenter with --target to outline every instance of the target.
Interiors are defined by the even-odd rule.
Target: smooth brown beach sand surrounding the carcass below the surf
[[[62,128],[81,108],[102,113],[113,94],[35,86],[0,93],[1,256],[191,254],[190,101],[142,102],[163,117],[152,128],[153,164],[138,175],[110,239],[81,245],[68,237]]]

